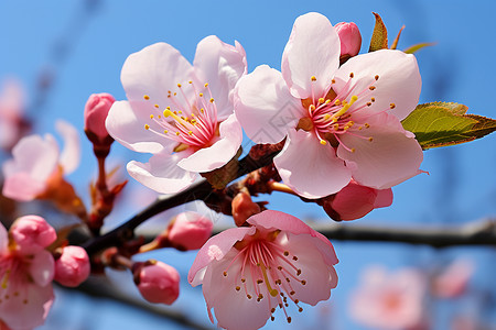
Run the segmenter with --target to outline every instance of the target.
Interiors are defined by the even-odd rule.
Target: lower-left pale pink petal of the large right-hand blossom
[[[292,131],[273,162],[284,184],[306,198],[335,194],[352,179],[334,148],[322,145],[316,136],[303,130]]]

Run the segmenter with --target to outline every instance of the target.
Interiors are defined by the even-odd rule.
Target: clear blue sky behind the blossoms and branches
[[[85,11],[88,3],[97,4],[91,12]],[[362,52],[368,48],[374,28],[373,11],[382,16],[390,41],[401,25],[406,25],[399,48],[435,42],[435,46],[417,54],[423,80],[420,102],[455,101],[468,106],[468,112],[496,118],[493,98],[496,88],[496,6],[488,0],[470,3],[428,0],[0,1],[0,78],[15,76],[25,86],[36,132],[53,132],[53,123],[58,118],[82,128],[84,105],[90,94],[106,91],[117,99],[125,98],[119,76],[129,54],[155,42],[166,42],[192,61],[196,43],[216,34],[224,42],[237,40],[242,44],[249,72],[261,64],[280,69],[282,51],[294,19],[310,11],[325,14],[332,23],[356,22],[364,41]],[[36,86],[42,72],[51,73],[53,82],[44,105],[39,107],[36,95],[40,89]],[[495,216],[495,143],[496,135],[493,134],[464,145],[425,152],[421,167],[430,175],[419,175],[395,187],[395,201],[390,208],[376,210],[356,222],[391,227],[452,226]],[[86,186],[95,174],[95,162],[88,142],[83,141],[83,164],[71,179],[86,198]],[[115,164],[121,165],[133,157],[120,145],[112,147],[111,156],[120,162],[115,161]],[[315,206],[301,204],[293,197],[274,195],[267,198],[273,209],[328,221]],[[138,207],[119,212],[112,220],[122,221],[123,217],[137,210]],[[339,285],[333,293],[334,311],[330,318],[330,322],[335,324],[333,329],[363,329],[347,318],[346,304],[349,289],[356,285],[360,270],[368,263],[382,263],[390,268],[402,265],[424,267],[455,255],[468,255],[478,262],[477,284],[494,287],[494,279],[488,275],[494,274],[494,268],[487,266],[495,262],[494,251],[433,251],[401,244],[352,242],[337,242],[335,248],[341,263],[337,266]],[[185,274],[194,255],[184,257],[184,254],[166,252],[154,257],[166,260]],[[188,307],[196,320],[207,323],[200,292],[187,288],[187,284],[183,287],[184,297],[175,308]],[[72,308],[72,314],[89,315],[90,306],[97,304],[85,297],[73,298],[69,299],[78,309],[74,311]],[[62,308],[57,304],[55,307]],[[120,307],[110,305],[106,308],[99,314],[101,322],[93,324],[91,329],[107,329],[112,322],[122,322],[121,329],[131,329],[137,322],[147,322],[148,317],[138,315],[134,318],[133,312],[122,311]],[[315,317],[316,312],[309,312],[309,318]],[[306,321],[305,316],[300,316],[299,321],[294,319],[293,329]],[[148,329],[162,329],[160,324],[151,320]],[[270,329],[280,326],[283,323],[276,322]],[[57,328],[47,326],[45,329]]]

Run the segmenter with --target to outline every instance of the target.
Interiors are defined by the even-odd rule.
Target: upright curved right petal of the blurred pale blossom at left
[[[64,168],[65,174],[73,173],[80,162],[79,132],[71,123],[57,120],[55,129],[64,140],[64,148],[61,152],[58,164]]]

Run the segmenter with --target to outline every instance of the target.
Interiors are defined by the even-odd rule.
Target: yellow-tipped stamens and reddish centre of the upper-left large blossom
[[[198,92],[195,84],[190,80],[188,88],[192,88],[193,97],[187,97],[181,84],[177,84],[177,91],[168,91],[170,106],[161,109],[154,103],[150,109],[150,123],[144,129],[153,134],[177,142],[174,152],[181,152],[188,147],[195,150],[212,145],[218,136],[217,107],[212,97],[208,84],[202,87]],[[186,88],[187,88],[186,87]],[[207,94],[209,97],[206,97]],[[153,101],[150,96],[143,96],[144,100]]]

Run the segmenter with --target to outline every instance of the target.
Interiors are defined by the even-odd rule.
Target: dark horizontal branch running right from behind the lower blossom
[[[359,242],[397,242],[433,248],[460,245],[496,246],[496,219],[470,222],[459,227],[391,228],[351,223],[313,224],[330,240]],[[218,233],[226,228],[215,228]]]

